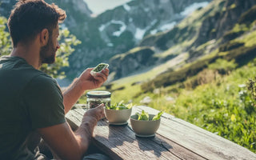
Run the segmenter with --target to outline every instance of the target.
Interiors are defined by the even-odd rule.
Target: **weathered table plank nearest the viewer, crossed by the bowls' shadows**
[[[108,126],[106,121],[99,123],[101,127],[94,130],[95,140],[121,158],[203,159],[158,134],[154,138],[137,138],[130,126]]]

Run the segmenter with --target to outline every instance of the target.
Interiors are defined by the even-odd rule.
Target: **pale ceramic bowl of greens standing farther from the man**
[[[154,118],[154,114],[149,114],[149,118]],[[155,121],[143,121],[138,120],[137,114],[130,116],[131,127],[138,137],[153,137],[160,126],[160,120],[161,118]]]

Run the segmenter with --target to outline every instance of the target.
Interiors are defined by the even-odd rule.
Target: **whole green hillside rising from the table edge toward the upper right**
[[[237,13],[235,3],[226,7],[224,2],[217,0],[214,6],[197,10],[174,29],[176,32],[151,36],[142,42],[142,46],[148,43],[166,48],[158,53],[159,58],[174,58],[99,90],[109,90],[113,103],[124,100],[165,110],[256,153],[256,6],[242,13],[229,30],[216,27],[204,42],[196,36],[202,31],[198,28],[206,26],[209,19],[222,25],[228,19],[220,15]],[[179,32],[190,27],[194,33]],[[170,37],[177,33],[183,39],[175,38],[174,42]],[[86,102],[86,98],[79,102]]]

